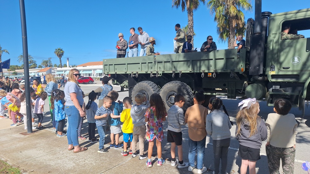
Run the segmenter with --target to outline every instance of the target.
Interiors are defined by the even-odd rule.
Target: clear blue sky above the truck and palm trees
[[[262,11],[273,14],[309,8],[309,0],[262,1]],[[254,18],[254,0],[251,3],[253,10],[245,13],[245,20]],[[128,41],[129,29],[134,27],[139,34],[137,28],[142,27],[156,39],[156,52],[173,53],[174,26],[187,25],[187,12],[171,6],[172,0],[25,0],[28,52],[38,65],[48,57],[52,57],[53,64],[59,64],[54,54],[58,47],[64,50],[62,64],[67,57],[70,65],[115,58],[118,33],[122,32]],[[0,16],[0,45],[10,53],[3,53],[2,60],[11,58],[11,65],[21,65],[17,62],[22,53],[19,1],[1,0]],[[195,48],[199,49],[211,35],[218,49],[227,49],[227,43],[217,40],[214,16],[206,5],[202,4],[193,18]]]

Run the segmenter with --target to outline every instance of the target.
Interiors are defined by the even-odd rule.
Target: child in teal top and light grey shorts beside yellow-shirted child
[[[110,96],[113,100],[112,105],[110,107],[110,110],[113,112],[113,115],[120,116],[121,112],[123,111],[123,104],[116,103],[115,101],[118,98],[118,92],[117,91],[109,91],[108,96]],[[120,117],[118,118],[112,118],[112,116],[109,116],[109,125],[110,125],[110,138],[111,138],[111,145],[110,148],[119,149],[123,147],[123,144],[119,144],[119,134],[122,132],[121,129],[121,121]],[[115,135],[115,143],[114,143],[114,135]]]

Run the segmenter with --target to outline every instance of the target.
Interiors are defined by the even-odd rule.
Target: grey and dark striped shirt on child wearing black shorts
[[[168,110],[168,130],[181,132],[181,125],[185,125],[183,109],[177,105],[173,105]]]

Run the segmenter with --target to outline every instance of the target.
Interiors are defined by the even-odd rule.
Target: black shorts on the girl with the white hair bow
[[[248,159],[250,161],[257,161],[260,159],[259,153],[260,153],[260,149],[254,149],[251,147],[239,145],[238,155],[240,155],[242,159]]]

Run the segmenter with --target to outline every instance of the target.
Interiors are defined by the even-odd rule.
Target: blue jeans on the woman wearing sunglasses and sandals
[[[65,106],[64,112],[68,116],[69,127],[67,129],[68,144],[78,146],[78,125],[81,120],[80,112],[75,106]]]

